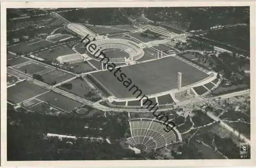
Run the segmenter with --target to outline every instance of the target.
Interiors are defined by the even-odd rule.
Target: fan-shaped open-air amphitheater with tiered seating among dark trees
[[[126,143],[133,150],[136,148],[141,152],[151,152],[182,141],[181,134],[175,127],[169,132],[164,128],[163,122],[156,119],[132,119],[130,121],[131,137],[127,138]]]

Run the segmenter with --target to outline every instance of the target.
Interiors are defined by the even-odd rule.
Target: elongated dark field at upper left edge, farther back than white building
[[[30,53],[36,51],[39,47],[46,47],[48,44],[52,44],[52,42],[41,39],[35,39],[29,42],[20,42],[18,45],[8,47],[7,50],[13,53]]]

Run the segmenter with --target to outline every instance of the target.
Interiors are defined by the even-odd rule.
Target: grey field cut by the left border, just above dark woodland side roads
[[[46,91],[46,89],[40,88],[29,82],[20,82],[7,88],[7,100],[14,103],[20,103]]]

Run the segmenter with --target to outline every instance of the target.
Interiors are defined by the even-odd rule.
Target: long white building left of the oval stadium
[[[70,55],[65,55],[65,56],[59,56],[56,58],[56,60],[60,63],[60,64],[74,64],[74,63],[79,63],[79,62],[83,62],[84,58],[82,57],[82,55],[80,54],[70,54]]]

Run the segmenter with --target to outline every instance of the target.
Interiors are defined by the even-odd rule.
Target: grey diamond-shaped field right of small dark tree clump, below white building
[[[74,77],[74,76],[71,75],[71,74],[64,73],[63,71],[60,71],[60,70],[54,70],[54,71],[51,71],[48,74],[42,75],[42,79],[44,79],[44,82],[48,83],[50,85],[54,81],[59,83],[59,82],[65,81],[67,79],[70,79],[72,77]]]

